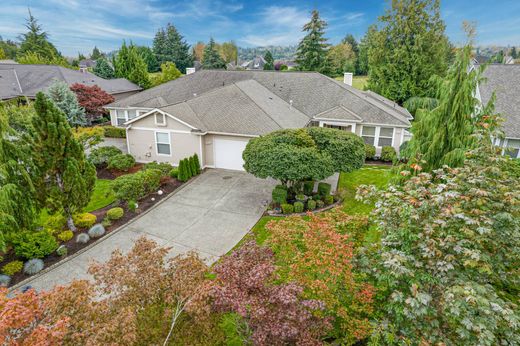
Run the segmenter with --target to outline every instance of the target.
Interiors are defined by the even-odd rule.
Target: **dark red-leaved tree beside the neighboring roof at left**
[[[97,85],[88,86],[75,83],[72,84],[70,90],[76,94],[80,106],[85,109],[89,123],[105,115],[107,111],[103,106],[114,102],[114,97]]]

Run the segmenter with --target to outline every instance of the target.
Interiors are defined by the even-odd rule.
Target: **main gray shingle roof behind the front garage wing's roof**
[[[308,118],[342,106],[364,123],[410,126],[411,116],[404,108],[395,107],[389,104],[391,101],[378,100],[368,92],[314,72],[202,70],[116,101],[107,107],[160,108],[164,102],[179,103],[246,80],[256,81],[287,104],[292,101],[293,108]]]

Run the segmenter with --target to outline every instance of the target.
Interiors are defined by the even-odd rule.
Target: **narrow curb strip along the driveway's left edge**
[[[9,293],[12,293],[14,291],[16,291],[17,289],[23,287],[23,286],[26,286],[27,284],[30,284],[32,281],[38,279],[39,277],[47,274],[48,272],[56,269],[57,267],[75,259],[76,257],[78,257],[79,255],[87,252],[88,250],[90,250],[91,248],[93,248],[94,246],[100,244],[101,242],[105,241],[105,240],[108,240],[110,239],[110,237],[112,237],[113,235],[119,233],[121,230],[123,230],[124,228],[128,227],[129,225],[131,225],[132,223],[136,222],[137,220],[139,220],[141,217],[143,217],[144,215],[148,214],[149,212],[151,212],[152,210],[154,210],[157,206],[161,205],[162,203],[166,202],[167,200],[169,200],[171,197],[173,197],[175,194],[177,194],[177,192],[181,191],[182,189],[184,189],[186,186],[188,186],[189,184],[191,184],[192,182],[194,182],[195,180],[197,180],[198,177],[200,177],[202,174],[199,174],[198,176],[196,176],[194,179],[190,179],[188,180],[187,182],[185,182],[184,184],[182,184],[181,186],[179,186],[177,189],[175,189],[175,191],[173,191],[168,197],[160,200],[159,202],[157,202],[152,208],[144,211],[143,213],[137,215],[136,217],[134,217],[132,220],[128,221],[127,223],[119,226],[118,228],[116,228],[115,230],[113,230],[112,232],[110,232],[109,234],[107,234],[105,237],[102,237],[101,239],[98,239],[96,240],[95,242],[89,244],[88,246],[84,247],[83,249],[79,250],[78,252],[75,252],[73,255],[71,256],[67,256],[65,257],[63,260],[57,262],[57,263],[54,263],[53,265],[51,265],[50,267],[47,267],[45,269],[43,269],[41,272],[39,272],[38,274],[36,275],[33,275],[31,277],[28,277],[27,279],[23,280],[23,281],[20,281],[19,283],[17,283],[16,285],[12,286],[12,287],[9,287],[8,288],[8,291]]]

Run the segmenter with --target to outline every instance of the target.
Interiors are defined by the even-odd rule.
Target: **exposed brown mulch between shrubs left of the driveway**
[[[140,168],[141,167],[142,167],[142,165],[140,166]],[[101,174],[104,174],[105,172],[110,172],[109,170],[106,170],[106,169],[104,169],[104,170],[100,169],[100,170],[98,170],[98,178],[101,178],[100,171],[101,171]],[[132,171],[133,171],[133,169],[132,169]],[[125,172],[124,174],[127,174],[127,173],[130,173],[130,172]],[[122,174],[119,174],[119,175],[122,175]],[[106,176],[107,175],[105,175],[105,178],[103,178],[103,179],[110,179]],[[114,179],[114,178],[112,178],[112,179]],[[67,256],[60,257],[60,256],[56,255],[56,252],[53,252],[49,256],[43,258],[43,262],[45,263],[45,268],[48,268],[51,265],[63,260],[64,258],[73,255],[74,253],[80,251],[81,249],[89,246],[94,241],[97,241],[98,239],[102,239],[102,238],[106,237],[108,234],[110,234],[111,232],[116,230],[118,227],[124,225],[125,223],[129,222],[130,220],[132,220],[139,214],[142,214],[146,210],[148,210],[151,207],[153,207],[154,205],[156,205],[160,200],[167,198],[173,191],[175,191],[181,185],[182,185],[182,183],[176,179],[173,179],[170,177],[163,178],[161,180],[161,187],[160,187],[160,190],[163,191],[163,194],[159,195],[157,192],[154,192],[154,193],[149,194],[145,198],[141,199],[137,203],[139,208],[135,212],[129,211],[126,203],[117,203],[117,202],[113,203],[112,205],[106,206],[102,209],[98,209],[98,210],[91,212],[91,214],[96,215],[97,222],[100,223],[103,220],[107,210],[117,207],[117,206],[120,206],[125,210],[125,213],[121,219],[112,221],[112,224],[110,226],[105,227],[106,233],[101,238],[91,239],[86,244],[80,244],[80,243],[76,243],[76,236],[79,233],[86,232],[87,230],[78,230],[77,232],[75,232],[74,237],[72,239],[60,244],[60,245],[67,246],[67,250],[68,250]],[[154,198],[154,201],[152,201],[152,198]],[[4,256],[4,260],[2,262],[0,262],[0,268],[3,267],[5,264],[7,264],[11,261],[14,261],[14,260],[19,260],[19,258],[16,257],[16,255],[14,254],[13,251],[10,251],[8,254],[6,254]],[[29,278],[30,276],[31,275],[26,275],[23,272],[17,273],[11,277],[10,286],[16,285],[17,283]]]

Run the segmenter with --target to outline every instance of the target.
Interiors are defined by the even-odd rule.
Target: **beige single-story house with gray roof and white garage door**
[[[316,72],[201,70],[106,106],[127,131],[138,162],[169,162],[193,153],[204,167],[242,170],[251,138],[286,128],[350,131],[396,150],[410,113],[373,92]]]

